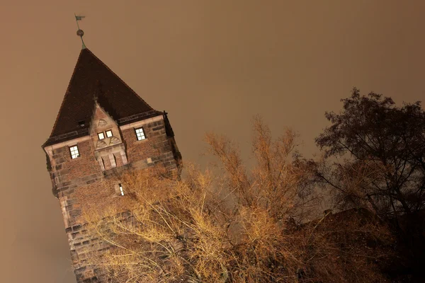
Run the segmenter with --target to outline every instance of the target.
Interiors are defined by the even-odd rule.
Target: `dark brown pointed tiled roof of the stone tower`
[[[118,125],[162,114],[84,48],[79,54],[50,138],[43,147],[88,134],[95,100]]]

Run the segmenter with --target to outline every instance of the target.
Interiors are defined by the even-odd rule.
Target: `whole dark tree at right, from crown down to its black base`
[[[375,211],[397,236],[387,267],[394,282],[424,282],[425,112],[421,103],[395,105],[391,98],[353,88],[331,126],[316,139],[324,158],[307,161],[313,182],[331,189],[340,209]],[[341,160],[342,158],[342,160]],[[399,280],[399,281],[397,281]]]

